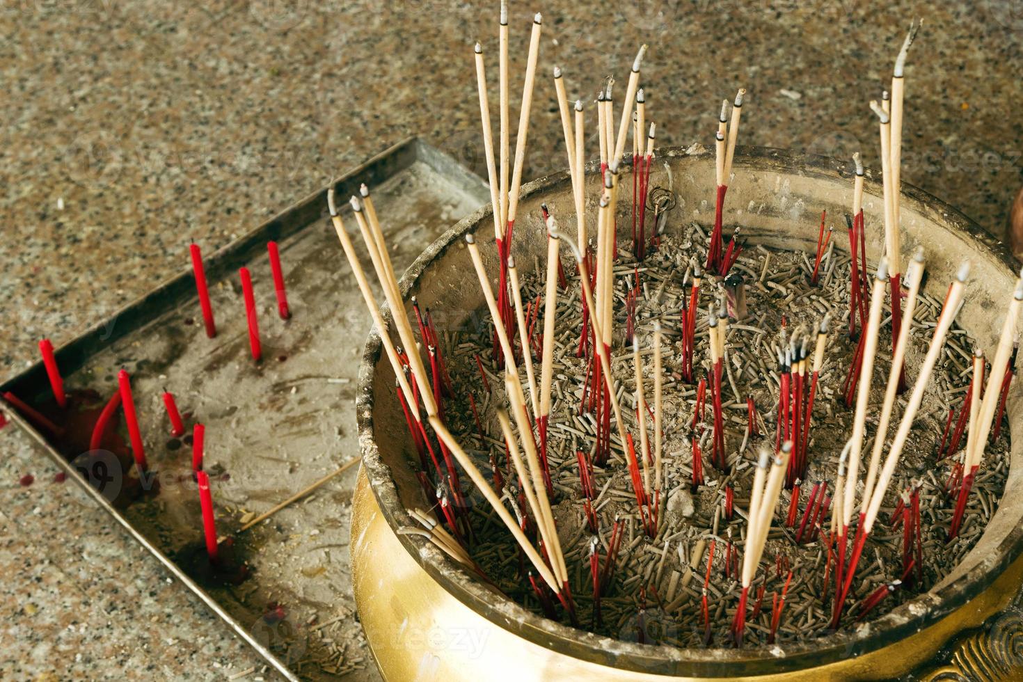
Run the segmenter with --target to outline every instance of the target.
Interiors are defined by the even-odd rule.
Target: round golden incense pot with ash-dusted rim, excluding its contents
[[[851,164],[740,147],[733,168],[725,223],[742,225],[750,246],[812,252],[821,211],[841,216],[852,202]],[[713,153],[702,147],[657,151],[651,186],[668,190],[676,202],[668,230],[679,221],[713,222]],[[595,196],[598,181],[598,173],[588,174],[593,191],[588,189],[587,196]],[[868,171],[865,192],[866,223],[880,225],[879,174]],[[903,184],[902,192],[902,242],[907,254],[917,246],[926,251],[924,290],[942,300],[960,263],[970,260],[968,294],[958,322],[990,357],[1003,321],[1003,313],[992,311],[1002,310],[1018,264],[1003,244],[954,209],[908,185]],[[541,202],[554,215],[574,214],[567,172],[523,187],[515,257],[524,271],[542,261],[545,253]],[[589,206],[587,211],[595,216],[596,208]],[[479,233],[481,243],[489,244],[493,229],[489,214],[487,206],[458,223],[415,261],[402,281],[406,300],[415,295],[421,305],[443,311],[449,328],[484,308],[479,286],[470,281],[473,266],[464,236]],[[626,229],[621,227],[626,223],[620,221],[619,229]],[[883,248],[881,232],[869,230],[866,252],[872,263]],[[483,253],[489,258],[488,270],[496,273],[495,249]],[[959,669],[936,671],[931,662],[943,647],[954,647],[958,636],[967,636],[964,633],[1004,609],[1023,580],[1023,406],[1015,387],[1008,403],[1012,446],[1005,494],[959,565],[929,592],[858,627],[845,625],[835,634],[800,643],[741,649],[638,644],[561,625],[491,590],[425,538],[396,533],[415,526],[406,507],[430,505],[425,504],[414,474],[415,453],[394,387],[391,366],[373,335],[366,344],[359,377],[363,468],[353,504],[351,553],[359,616],[388,680],[862,680],[909,674],[960,679],[954,677],[957,670],[971,674],[970,655],[951,656]],[[990,637],[1003,641],[1020,632],[1013,624],[997,630]],[[971,635],[971,650],[983,649],[997,657],[1000,644],[988,635],[984,631]]]

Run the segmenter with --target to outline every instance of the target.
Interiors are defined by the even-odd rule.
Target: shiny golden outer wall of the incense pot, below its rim
[[[359,618],[387,680],[481,681],[500,679],[502,672],[510,671],[519,679],[551,681],[700,679],[629,673],[574,658],[518,637],[473,611],[434,581],[398,542],[361,468],[352,502],[351,553]],[[1009,605],[1021,582],[1023,559],[966,606],[891,646],[827,666],[732,679],[891,679],[921,668],[928,669],[921,677],[929,680],[1021,679],[1023,667],[1016,649],[1023,641],[1023,620],[1018,616],[1003,617],[994,628],[964,637],[950,657],[938,655],[957,635]],[[932,668],[938,657],[949,663]]]

